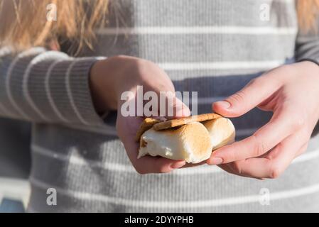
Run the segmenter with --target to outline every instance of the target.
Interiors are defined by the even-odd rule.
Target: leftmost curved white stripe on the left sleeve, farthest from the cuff
[[[23,116],[26,119],[29,119],[28,115],[25,114],[22,109],[20,109],[20,107],[18,106],[18,104],[16,104],[16,101],[14,101],[12,93],[11,93],[11,85],[10,85],[10,80],[11,80],[11,76],[12,76],[12,72],[13,72],[13,68],[16,66],[16,63],[18,62],[18,60],[20,60],[22,57],[26,57],[28,55],[37,55],[40,54],[41,52],[44,52],[45,49],[44,48],[32,48],[30,50],[26,50],[24,52],[21,52],[21,54],[17,55],[13,61],[11,62],[7,75],[6,75],[6,93],[7,96],[9,98],[10,103],[12,104],[12,106],[16,109],[16,111],[18,111],[19,114],[21,114],[21,116]]]

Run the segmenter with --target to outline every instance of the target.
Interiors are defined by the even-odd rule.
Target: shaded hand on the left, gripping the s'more
[[[185,165],[184,160],[170,160],[164,157],[144,156],[137,159],[139,143],[136,143],[135,135],[143,118],[124,117],[121,114],[121,104],[124,103],[120,99],[121,94],[133,92],[135,99],[137,86],[143,86],[144,93],[156,92],[158,97],[159,92],[175,92],[166,72],[153,62],[136,57],[110,57],[93,65],[90,85],[98,112],[117,109],[117,133],[137,172],[140,174],[171,172]],[[188,107],[179,99],[175,97],[173,99],[173,102],[168,101],[168,104],[173,104],[173,118],[189,116]]]

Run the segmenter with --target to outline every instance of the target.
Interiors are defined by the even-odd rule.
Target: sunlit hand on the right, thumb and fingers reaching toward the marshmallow
[[[305,61],[266,72],[225,101],[213,104],[213,109],[237,117],[255,106],[274,112],[269,123],[249,138],[216,150],[207,164],[244,177],[279,177],[306,151],[318,122],[318,65]]]

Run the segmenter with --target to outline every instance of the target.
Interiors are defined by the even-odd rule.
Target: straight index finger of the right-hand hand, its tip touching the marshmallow
[[[279,110],[271,118],[271,121],[256,131],[254,135],[215,150],[207,163],[220,165],[250,157],[259,157],[274,148],[288,135],[296,133],[302,126],[301,117],[289,109]]]

